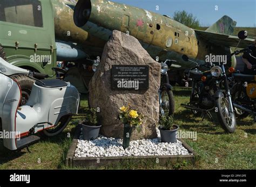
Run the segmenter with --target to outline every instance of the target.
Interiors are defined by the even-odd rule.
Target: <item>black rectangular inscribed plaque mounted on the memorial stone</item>
[[[148,90],[149,66],[113,65],[112,90]]]

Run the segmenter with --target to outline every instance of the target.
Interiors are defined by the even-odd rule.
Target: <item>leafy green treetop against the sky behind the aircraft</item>
[[[199,19],[185,10],[174,12],[173,19],[190,28],[199,29],[200,26]]]

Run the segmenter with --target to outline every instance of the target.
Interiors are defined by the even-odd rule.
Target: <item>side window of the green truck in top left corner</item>
[[[42,5],[39,1],[2,0],[0,21],[43,27]]]

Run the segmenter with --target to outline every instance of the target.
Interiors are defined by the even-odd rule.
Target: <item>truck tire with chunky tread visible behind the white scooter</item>
[[[35,81],[26,75],[14,75],[11,78],[18,82],[22,90],[22,99],[21,99],[20,106],[25,105],[26,102],[28,102],[28,99]]]

